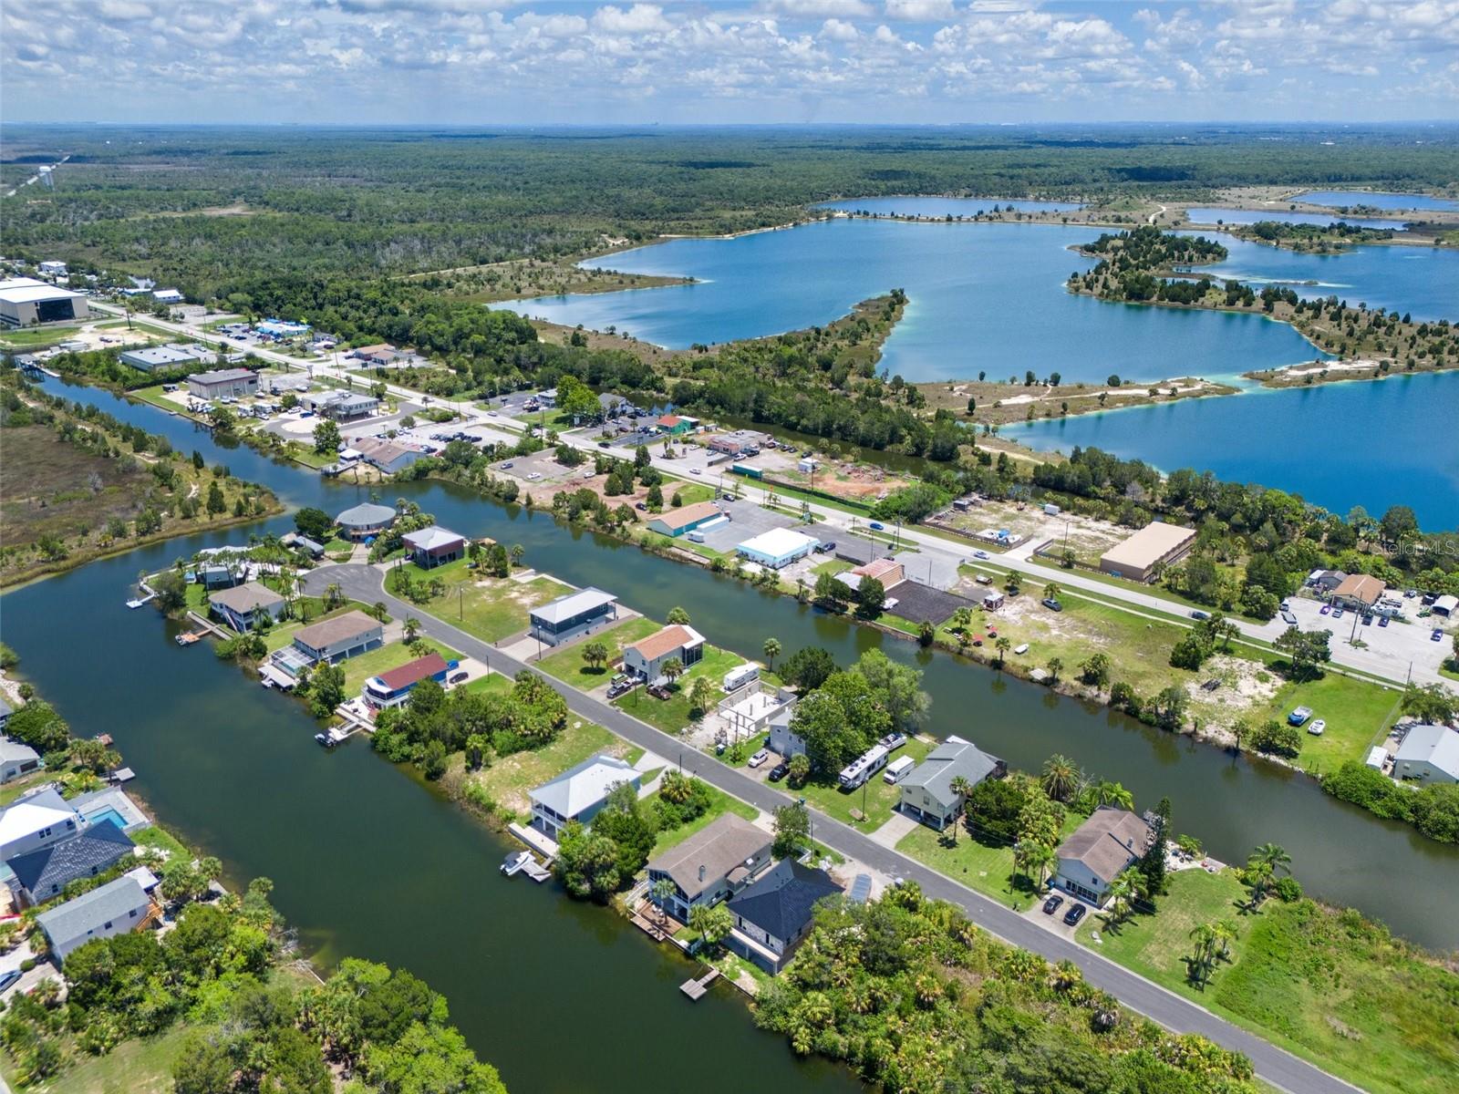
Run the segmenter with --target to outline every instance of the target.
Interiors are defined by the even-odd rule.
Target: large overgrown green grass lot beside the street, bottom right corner
[[[1382,928],[1307,901],[1268,899],[1255,915],[1226,871],[1182,871],[1153,916],[1113,932],[1088,916],[1078,939],[1104,957],[1380,1094],[1453,1090],[1459,993],[1453,973]],[[1202,989],[1186,979],[1191,931],[1228,919],[1237,941]],[[1094,944],[1094,935],[1100,942]]]

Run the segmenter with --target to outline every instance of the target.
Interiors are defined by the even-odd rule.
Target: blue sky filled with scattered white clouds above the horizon
[[[3,0],[6,121],[1459,117],[1459,0]]]

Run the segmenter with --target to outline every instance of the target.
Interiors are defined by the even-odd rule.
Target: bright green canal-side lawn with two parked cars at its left
[[[1328,672],[1322,680],[1282,684],[1275,699],[1253,713],[1252,722],[1269,718],[1285,722],[1293,707],[1310,706],[1313,719],[1322,718],[1328,726],[1322,737],[1303,734],[1297,764],[1316,775],[1335,770],[1344,760],[1366,759],[1369,748],[1380,744],[1398,721],[1402,697],[1401,691]]]

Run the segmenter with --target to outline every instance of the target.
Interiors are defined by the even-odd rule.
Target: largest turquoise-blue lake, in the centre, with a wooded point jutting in
[[[734,239],[674,239],[595,260],[697,284],[506,303],[569,327],[659,346],[754,338],[823,324],[903,287],[910,303],[883,366],[906,379],[1039,376],[1065,384],[1217,376],[1312,360],[1290,327],[1224,315],[1104,303],[1064,282],[1090,261],[1068,248],[1099,229],[1017,223],[826,220]]]

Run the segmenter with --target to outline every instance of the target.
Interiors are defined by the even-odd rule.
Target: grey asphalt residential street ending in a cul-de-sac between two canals
[[[515,675],[522,670],[537,671],[527,665],[527,662],[508,656],[496,646],[481,642],[464,630],[385,594],[382,591],[384,575],[372,566],[325,566],[312,570],[305,578],[309,592],[315,595],[322,592],[324,586],[330,582],[338,582],[346,597],[363,601],[365,604],[382,600],[395,618],[414,616],[420,620],[422,630],[426,635],[461,653],[477,658],[498,672]],[[677,760],[680,754],[687,751],[678,738],[654,729],[619,710],[616,706],[610,706],[601,699],[585,694],[553,677],[543,675],[543,678],[557,688],[568,700],[568,709],[575,715],[597,722],[630,744],[658,753],[667,760]],[[788,795],[751,779],[741,770],[725,766],[715,757],[705,756],[697,750],[693,750],[693,757],[700,779],[760,810],[775,810],[792,801]],[[1245,1053],[1256,1068],[1256,1074],[1281,1090],[1293,1091],[1293,1094],[1307,1094],[1307,1091],[1316,1094],[1351,1094],[1355,1090],[1342,1079],[1328,1075],[1319,1068],[1262,1040],[1256,1034],[1247,1033],[1223,1018],[1217,1018],[1210,1011],[1160,988],[1151,980],[1112,961],[1106,961],[1099,954],[1052,931],[1043,929],[1037,922],[1024,919],[1017,912],[989,900],[980,893],[960,885],[897,850],[883,847],[867,834],[840,821],[814,811],[811,812],[811,818],[814,837],[826,846],[848,858],[859,859],[889,877],[916,881],[926,896],[957,904],[969,919],[1005,942],[1032,950],[1050,961],[1074,961],[1091,985],[1109,992],[1131,1009],[1153,1018],[1166,1028],[1180,1033],[1199,1033],[1217,1044]]]

